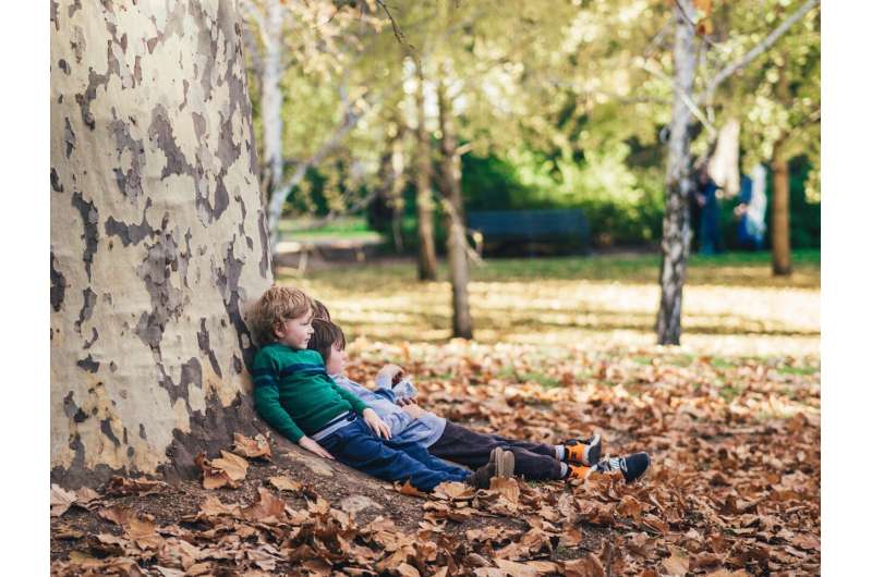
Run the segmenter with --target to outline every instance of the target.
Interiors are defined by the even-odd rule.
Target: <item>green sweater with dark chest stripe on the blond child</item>
[[[254,407],[281,434],[299,442],[348,410],[359,415],[366,404],[338,386],[317,351],[298,351],[280,343],[254,356]]]

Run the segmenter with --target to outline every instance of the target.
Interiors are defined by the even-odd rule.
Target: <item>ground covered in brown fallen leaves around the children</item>
[[[53,488],[52,574],[820,573],[814,356],[362,339],[350,352],[352,378],[372,384],[399,363],[421,404],[456,421],[548,442],[595,430],[613,455],[649,451],[652,469],[629,487],[509,480],[410,496],[238,439],[204,455],[197,483]]]

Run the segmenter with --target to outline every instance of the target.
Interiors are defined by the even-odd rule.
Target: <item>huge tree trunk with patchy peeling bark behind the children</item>
[[[235,4],[52,4],[51,477],[191,474],[272,280]]]

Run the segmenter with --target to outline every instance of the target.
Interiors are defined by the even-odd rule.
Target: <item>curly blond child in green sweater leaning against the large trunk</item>
[[[358,396],[336,385],[320,355],[307,351],[312,300],[300,290],[272,286],[255,303],[250,324],[262,348],[254,357],[254,405],[281,434],[325,458],[336,458],[386,481],[409,481],[432,491],[444,481],[489,487],[495,476],[510,477],[514,457],[495,451],[470,472],[431,457],[420,445],[386,445],[390,429]],[[378,437],[376,437],[378,435]]]

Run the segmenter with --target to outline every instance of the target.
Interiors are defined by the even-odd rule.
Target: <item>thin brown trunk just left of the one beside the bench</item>
[[[417,71],[417,278],[422,281],[436,280],[436,245],[433,240],[433,191],[431,175],[429,133],[424,111],[424,74]]]

